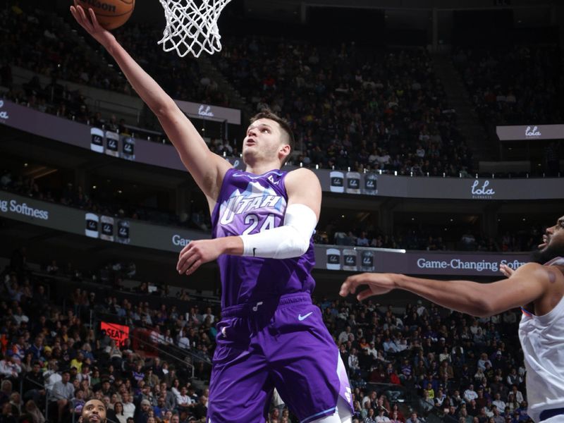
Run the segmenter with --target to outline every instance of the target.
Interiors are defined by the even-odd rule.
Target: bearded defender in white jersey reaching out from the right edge
[[[522,306],[519,338],[527,368],[528,414],[534,422],[564,422],[564,216],[547,228],[531,263],[494,283],[435,281],[400,274],[357,274],[340,294],[364,300],[393,289],[408,290],[443,307],[491,316]]]

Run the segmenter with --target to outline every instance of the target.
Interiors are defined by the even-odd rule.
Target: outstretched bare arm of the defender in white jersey
[[[400,274],[365,273],[347,278],[340,294],[354,294],[357,288],[366,286],[357,295],[359,300],[364,300],[393,289],[403,289],[443,307],[473,316],[491,316],[531,302],[535,303],[535,307],[540,307],[537,313],[542,313],[550,311],[562,298],[562,281],[555,283],[562,278],[562,274],[559,275],[555,269],[536,263],[525,264],[510,278],[494,283],[437,281]]]

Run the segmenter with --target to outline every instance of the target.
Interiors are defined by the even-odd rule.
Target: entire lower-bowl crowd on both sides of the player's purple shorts
[[[0,275],[2,422],[70,422],[90,398],[115,422],[204,422],[217,301],[128,288],[129,267],[116,264],[97,283],[56,261],[32,273],[26,257],[16,250]],[[515,311],[476,319],[421,300],[315,302],[352,384],[353,422],[530,422]],[[129,339],[101,331],[99,316],[130,326]],[[268,421],[297,422],[279,403]]]

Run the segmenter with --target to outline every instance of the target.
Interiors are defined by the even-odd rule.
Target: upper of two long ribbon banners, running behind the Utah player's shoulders
[[[88,125],[44,114],[7,100],[0,101],[0,124],[9,125],[49,140],[89,149],[98,154],[107,154],[117,159],[185,171],[185,166],[171,145],[134,139],[125,135],[118,136],[102,128],[91,128]],[[540,133],[543,134],[542,128],[545,126],[539,126],[537,132],[541,128]],[[553,126],[564,127],[564,125]],[[245,168],[240,157],[226,157],[226,159],[235,168]],[[284,168],[288,171],[292,169],[292,166]],[[483,201],[553,200],[564,197],[562,178],[474,179],[425,176],[412,178],[329,169],[313,171],[325,192],[343,195]]]

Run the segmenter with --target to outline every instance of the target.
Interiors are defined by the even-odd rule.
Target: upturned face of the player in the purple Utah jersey
[[[276,159],[286,145],[285,140],[286,134],[278,122],[258,119],[247,128],[247,136],[243,140],[243,158]]]

